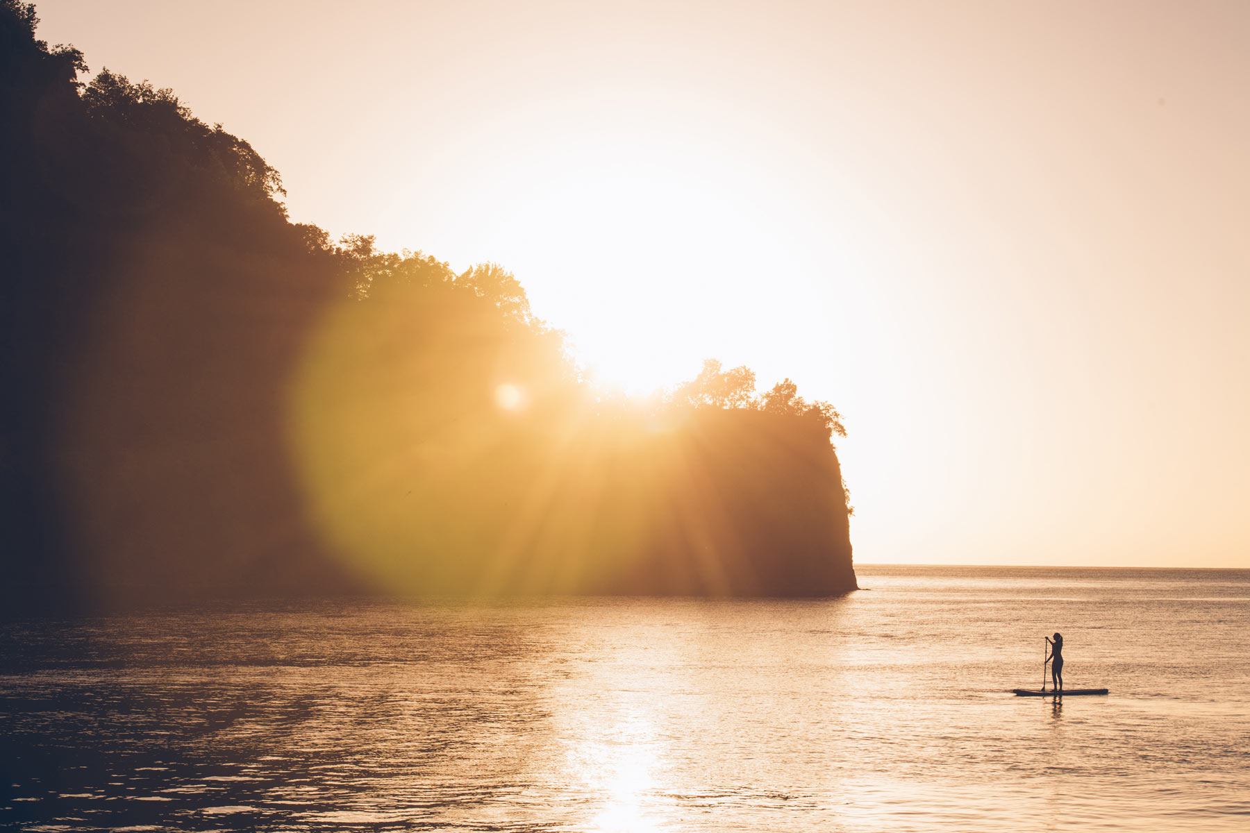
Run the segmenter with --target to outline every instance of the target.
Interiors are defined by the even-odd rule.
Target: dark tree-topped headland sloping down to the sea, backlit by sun
[[[2,601],[854,587],[826,403],[579,377],[496,265],[289,221],[170,90],[0,2]]]

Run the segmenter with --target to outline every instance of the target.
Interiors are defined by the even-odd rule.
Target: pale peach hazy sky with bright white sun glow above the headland
[[[1250,2],[38,9],[604,380],[832,401],[858,561],[1250,567]]]

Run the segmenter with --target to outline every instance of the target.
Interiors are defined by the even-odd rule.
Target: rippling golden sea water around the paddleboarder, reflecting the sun
[[[1250,829],[1250,571],[858,573],[0,626],[0,826]]]

